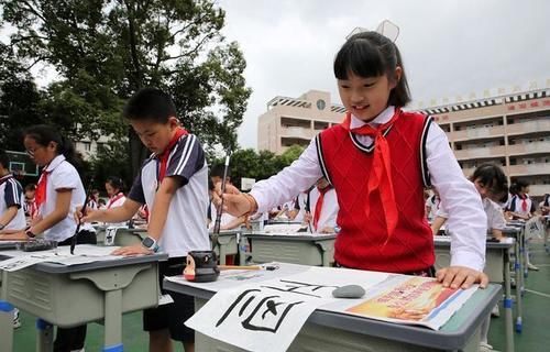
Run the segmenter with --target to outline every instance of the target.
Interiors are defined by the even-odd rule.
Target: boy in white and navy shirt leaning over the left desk
[[[121,207],[90,211],[80,221],[125,221],[146,204],[151,211],[148,235],[141,244],[122,248],[113,254],[151,254],[160,250],[167,253],[168,261],[160,263],[162,286],[164,276],[182,275],[189,251],[210,250],[205,227],[208,205],[205,151],[196,135],[179,127],[174,102],[160,89],[138,91],[128,101],[123,116],[153,154],[143,164]],[[143,311],[150,351],[172,351],[172,338],[182,342],[186,352],[193,352],[195,331],[184,322],[195,314],[194,298],[169,295],[173,304]]]

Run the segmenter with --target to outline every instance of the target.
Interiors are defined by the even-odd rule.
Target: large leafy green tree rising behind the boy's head
[[[220,30],[224,12],[210,0],[0,0],[16,29],[10,45],[29,66],[44,62],[62,77],[44,107],[72,122],[76,136],[128,133],[133,174],[147,152],[121,129],[120,109],[138,89],[173,95],[184,127],[212,151],[237,150],[237,128],[251,90],[245,62]],[[216,109],[212,109],[216,107]],[[121,161],[123,162],[123,161]]]

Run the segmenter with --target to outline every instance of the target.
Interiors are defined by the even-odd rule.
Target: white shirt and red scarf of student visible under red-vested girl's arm
[[[320,190],[314,187],[309,191],[311,207],[311,226],[314,232],[321,232],[324,228],[336,228],[338,217],[338,198],[332,186]]]

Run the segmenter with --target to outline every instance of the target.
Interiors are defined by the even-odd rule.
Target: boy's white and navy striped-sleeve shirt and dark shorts
[[[156,190],[166,177],[177,177],[180,188],[170,200],[166,222],[158,241],[161,251],[167,253],[169,260],[160,263],[158,280],[163,276],[182,275],[187,252],[210,250],[208,231],[205,227],[208,206],[208,166],[205,152],[197,136],[183,134],[169,147],[166,169],[162,169],[160,155],[146,160],[134,179],[128,198],[146,204],[154,209]],[[166,292],[163,290],[164,294]],[[187,295],[169,294],[174,304],[146,309],[143,312],[145,331],[169,329],[172,339],[194,341],[194,330],[184,326],[187,318],[195,312],[194,299]]]

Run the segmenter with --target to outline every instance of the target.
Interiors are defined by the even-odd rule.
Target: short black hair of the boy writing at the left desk
[[[128,100],[122,116],[128,120],[151,120],[158,123],[166,123],[168,118],[177,117],[172,98],[157,88],[139,90]]]

